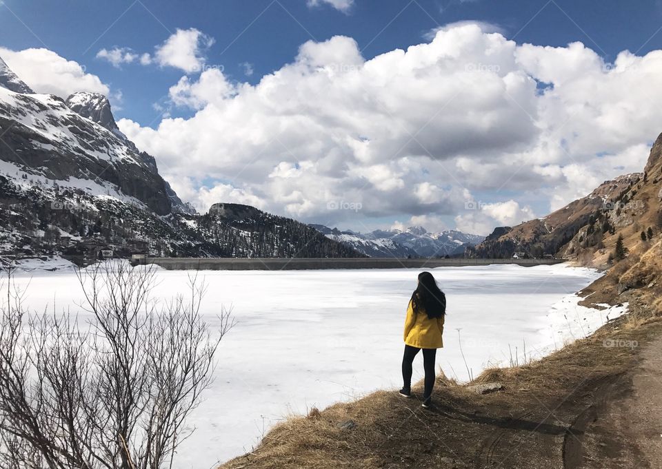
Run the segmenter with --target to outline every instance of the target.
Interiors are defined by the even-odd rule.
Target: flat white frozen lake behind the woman
[[[189,420],[196,431],[176,467],[210,468],[250,451],[286,415],[399,388],[405,309],[419,271],[205,271],[203,313],[213,324],[221,304],[232,306],[237,325],[221,342],[216,381]],[[577,306],[572,293],[601,275],[590,269],[494,265],[432,273],[448,298],[437,364],[461,381],[467,366],[477,376],[508,364],[509,345],[520,359],[524,342],[527,355],[539,357],[621,312]],[[187,275],[159,270],[154,296],[185,293]],[[29,282],[32,309],[55,302],[74,312],[82,302],[71,271],[21,273],[17,282]],[[422,376],[419,356],[414,381]]]

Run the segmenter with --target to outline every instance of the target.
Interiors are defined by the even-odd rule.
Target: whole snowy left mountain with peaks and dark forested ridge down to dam
[[[106,96],[34,94],[1,60],[0,135],[0,256],[361,256],[252,207],[197,214],[119,132]]]

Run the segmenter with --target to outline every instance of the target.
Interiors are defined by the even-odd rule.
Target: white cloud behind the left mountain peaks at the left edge
[[[48,49],[14,51],[0,48],[0,56],[37,93],[67,98],[79,91],[106,95],[110,91],[98,76],[87,73],[83,65],[64,59]]]

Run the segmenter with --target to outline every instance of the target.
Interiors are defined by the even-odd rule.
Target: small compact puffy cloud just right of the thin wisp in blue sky
[[[205,63],[205,51],[214,39],[195,29],[177,29],[156,48],[154,61],[162,67],[176,67],[184,72],[200,72]]]

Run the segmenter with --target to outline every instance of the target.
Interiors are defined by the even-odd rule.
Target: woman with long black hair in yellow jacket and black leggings
[[[437,348],[443,347],[443,317],[446,314],[446,297],[437,286],[432,273],[421,272],[419,284],[412,293],[405,320],[405,355],[402,359],[402,379],[404,386],[400,390],[403,397],[412,395],[412,362],[423,349],[423,368],[425,368],[425,391],[423,407],[432,402],[434,387],[434,359]]]

